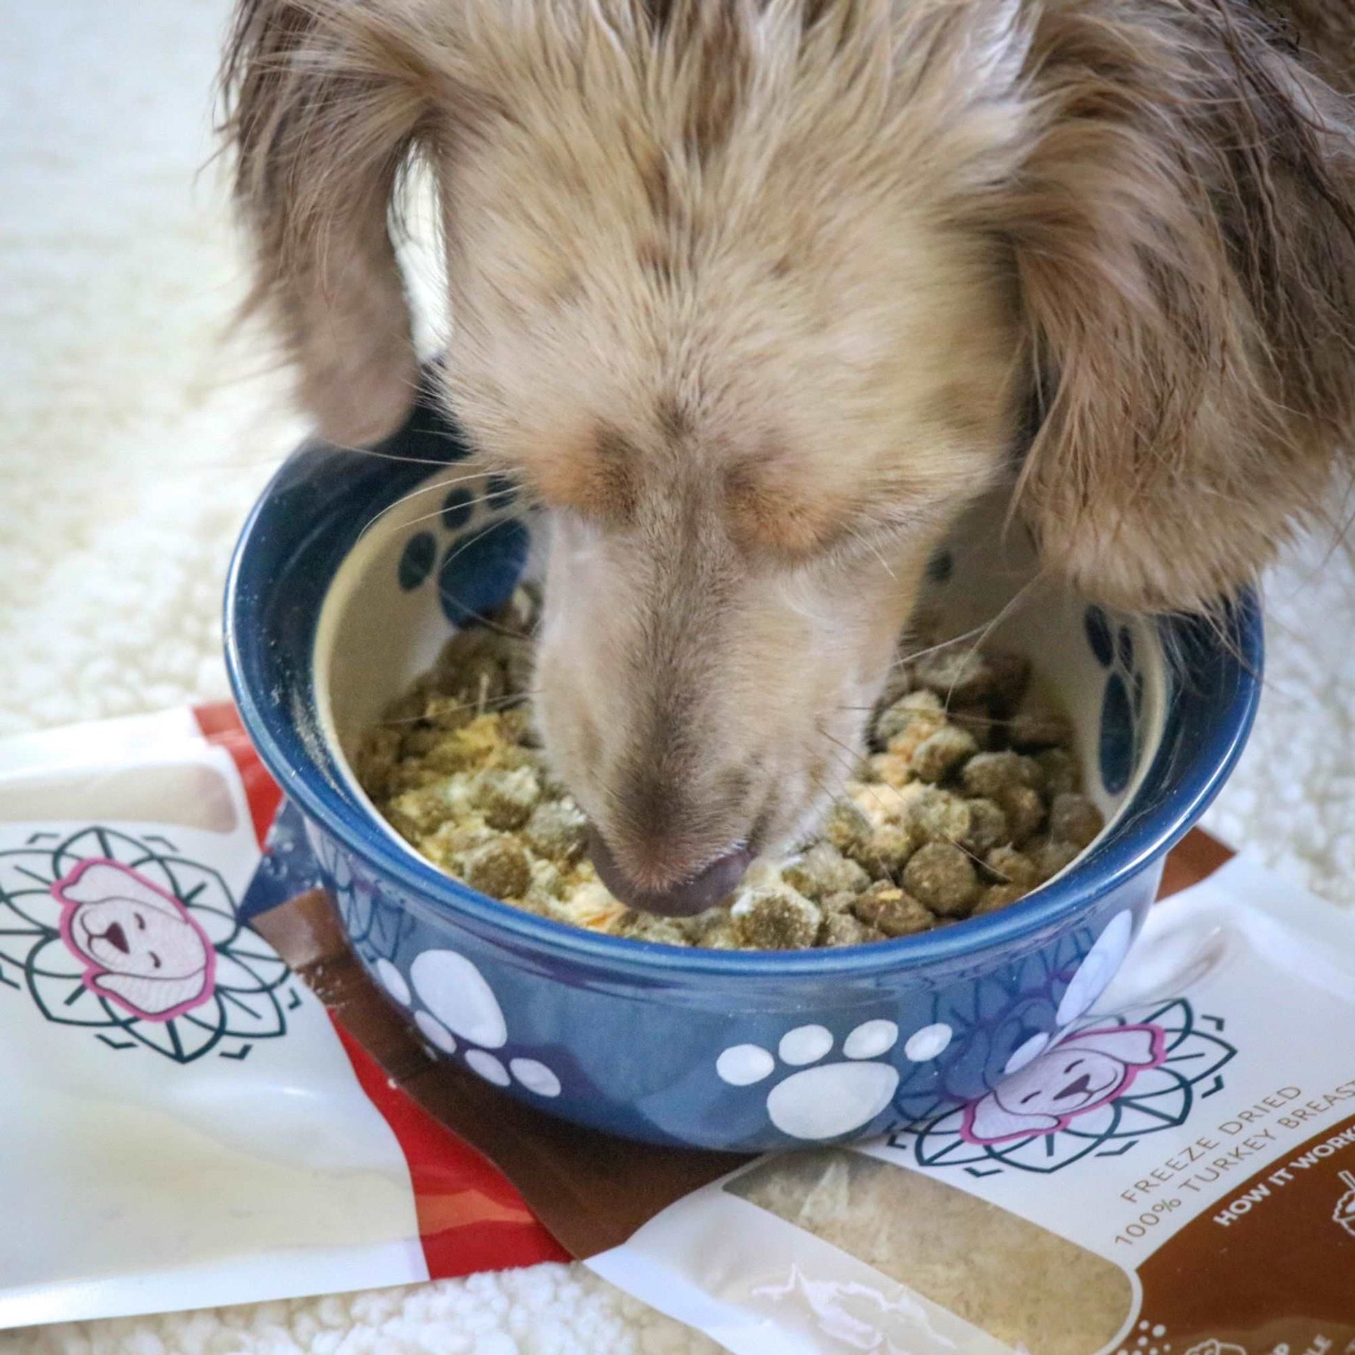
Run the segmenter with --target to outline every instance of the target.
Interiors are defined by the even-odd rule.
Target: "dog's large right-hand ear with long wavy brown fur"
[[[1230,0],[1037,12],[1001,203],[1046,564],[1206,610],[1320,514],[1355,412],[1355,119]]]

